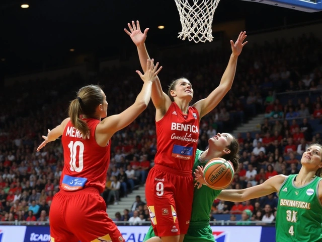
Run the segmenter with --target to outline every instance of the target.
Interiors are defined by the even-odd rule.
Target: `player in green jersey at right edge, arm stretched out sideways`
[[[276,241],[322,241],[322,146],[311,144],[301,164],[298,174],[276,175],[252,188],[223,190],[218,198],[243,202],[277,192]],[[205,183],[202,167],[196,173],[199,183]]]

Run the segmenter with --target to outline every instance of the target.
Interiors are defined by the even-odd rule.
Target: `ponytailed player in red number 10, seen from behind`
[[[50,236],[52,242],[125,241],[115,223],[106,213],[100,194],[106,183],[110,163],[112,135],[129,125],[146,108],[158,64],[147,60],[144,84],[134,104],[117,115],[107,116],[106,96],[99,86],[81,88],[69,105],[69,117],[43,136],[48,142],[62,135],[64,168],[60,191],[50,207]],[[81,117],[83,115],[83,117]],[[101,121],[101,118],[106,117]]]

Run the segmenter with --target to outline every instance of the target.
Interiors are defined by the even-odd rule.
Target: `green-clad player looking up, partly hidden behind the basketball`
[[[222,157],[230,160],[235,171],[238,169],[238,141],[230,134],[218,133],[216,136],[208,140],[209,148],[205,151],[196,151],[195,163],[192,171],[195,171],[197,166],[205,165],[212,158]],[[214,236],[209,225],[209,214],[211,206],[221,190],[213,190],[207,186],[201,189],[195,189],[194,199],[192,204],[192,213],[190,225],[187,234],[184,237],[184,242],[214,242]],[[161,241],[159,237],[155,237],[152,226],[146,233],[144,240],[147,242]]]

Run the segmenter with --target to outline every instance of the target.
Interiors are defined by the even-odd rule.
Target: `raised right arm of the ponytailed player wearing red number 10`
[[[153,59],[146,61],[146,72],[143,75],[136,71],[144,82],[141,92],[137,95],[135,102],[120,114],[105,118],[100,124],[99,133],[108,133],[111,137],[115,132],[123,129],[133,122],[133,120],[147,107],[151,98],[151,87],[157,74],[162,70],[158,68],[158,63],[153,65]]]

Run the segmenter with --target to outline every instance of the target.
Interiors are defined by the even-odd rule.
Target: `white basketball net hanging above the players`
[[[182,26],[178,38],[189,41],[211,42],[211,24],[220,0],[175,0]]]

